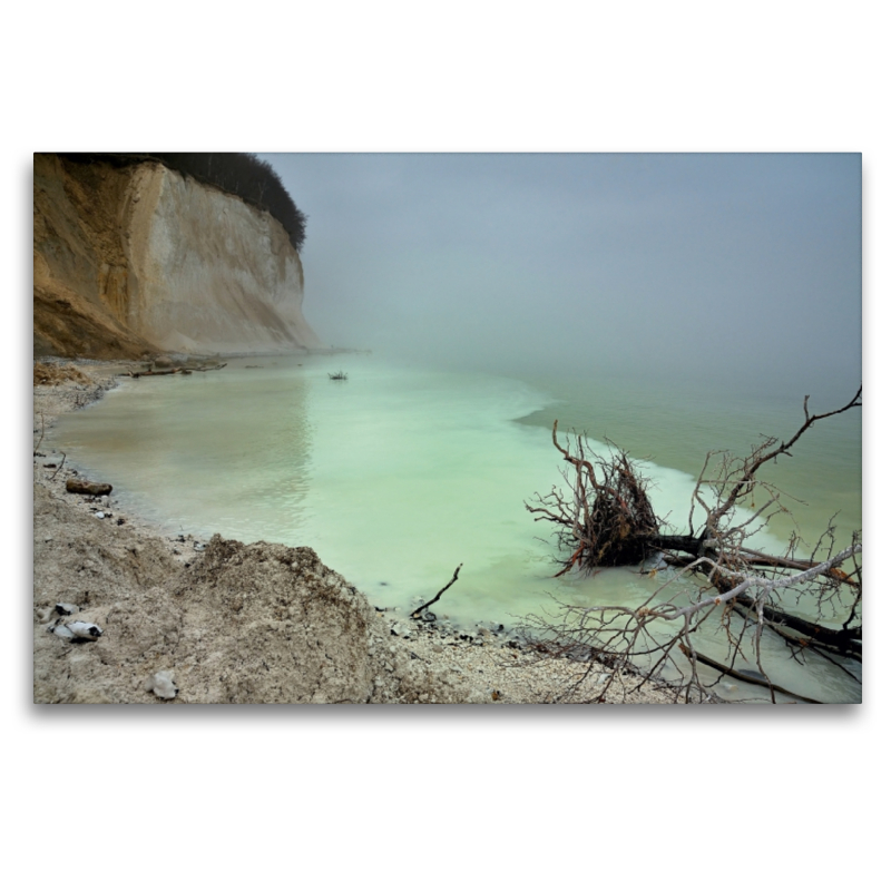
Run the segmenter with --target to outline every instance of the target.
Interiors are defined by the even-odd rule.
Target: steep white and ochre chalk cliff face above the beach
[[[33,258],[36,355],[322,345],[282,225],[160,164],[35,155]]]

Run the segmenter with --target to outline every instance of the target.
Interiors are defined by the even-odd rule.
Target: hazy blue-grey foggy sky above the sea
[[[860,155],[261,157],[310,217],[304,312],[326,342],[860,379]]]

